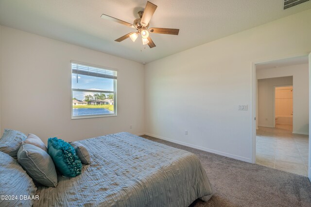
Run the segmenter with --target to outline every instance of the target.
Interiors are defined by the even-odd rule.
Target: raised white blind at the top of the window
[[[117,71],[86,66],[78,63],[71,63],[72,73],[80,75],[88,75],[100,78],[117,79]]]

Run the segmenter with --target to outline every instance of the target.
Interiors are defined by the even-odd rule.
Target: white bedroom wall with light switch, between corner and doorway
[[[307,10],[147,64],[147,134],[251,162],[252,65],[311,51],[310,22]]]

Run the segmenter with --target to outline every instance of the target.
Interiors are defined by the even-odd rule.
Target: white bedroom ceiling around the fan
[[[311,1],[283,10],[284,0],[150,0],[158,7],[150,27],[180,29],[151,34],[156,47],[114,40],[133,29],[101,18],[132,23],[146,0],[0,0],[0,24],[117,55],[140,63],[181,52],[261,24],[311,9]]]

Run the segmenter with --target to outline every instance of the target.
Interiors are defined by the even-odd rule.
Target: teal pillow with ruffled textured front
[[[49,138],[48,152],[56,169],[65,177],[75,177],[81,174],[82,163],[74,148],[66,141]]]

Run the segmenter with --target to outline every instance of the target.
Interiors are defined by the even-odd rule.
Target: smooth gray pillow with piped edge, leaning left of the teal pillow
[[[51,156],[41,148],[22,142],[18,153],[18,163],[39,184],[57,186],[57,174]]]

